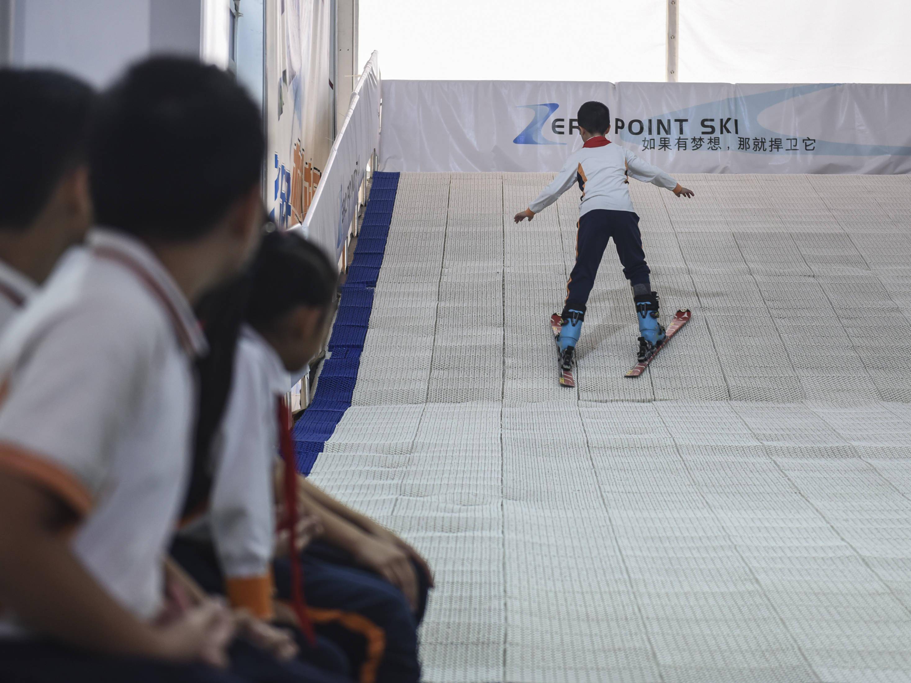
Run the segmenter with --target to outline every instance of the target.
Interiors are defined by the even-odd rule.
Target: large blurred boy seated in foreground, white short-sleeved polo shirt
[[[0,679],[337,680],[231,645],[217,601],[165,609],[206,346],[192,304],[259,241],[264,147],[259,107],[213,66],[149,59],[101,99],[105,227],[0,343]]]

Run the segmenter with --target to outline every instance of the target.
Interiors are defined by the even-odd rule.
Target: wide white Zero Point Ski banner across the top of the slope
[[[556,171],[576,112],[671,173],[911,172],[911,86],[404,81],[383,84],[384,171]]]

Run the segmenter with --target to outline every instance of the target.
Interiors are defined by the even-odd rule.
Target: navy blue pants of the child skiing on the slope
[[[610,238],[614,239],[623,275],[630,285],[644,284],[650,288],[651,271],[642,251],[639,216],[632,211],[595,209],[578,219],[576,265],[567,282],[567,309],[585,311]]]

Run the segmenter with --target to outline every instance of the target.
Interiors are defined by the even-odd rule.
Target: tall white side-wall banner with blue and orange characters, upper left
[[[332,145],[330,0],[266,3],[266,206],[280,228],[303,220]]]

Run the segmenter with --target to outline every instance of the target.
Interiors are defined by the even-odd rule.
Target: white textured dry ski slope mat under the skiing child
[[[314,479],[435,566],[425,679],[911,681],[911,178],[632,183],[558,386],[578,192],[402,174],[353,406]]]

